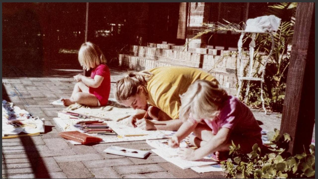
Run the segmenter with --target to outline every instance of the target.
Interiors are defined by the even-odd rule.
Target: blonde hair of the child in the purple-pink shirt
[[[185,122],[190,113],[198,122],[202,118],[214,118],[228,95],[219,84],[206,80],[197,80],[180,96],[180,119]]]

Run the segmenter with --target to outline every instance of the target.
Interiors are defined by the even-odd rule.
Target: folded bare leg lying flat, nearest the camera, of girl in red
[[[98,99],[95,95],[90,93],[78,92],[71,97],[71,100],[74,100],[74,102],[78,104],[84,104],[92,107],[98,106]]]

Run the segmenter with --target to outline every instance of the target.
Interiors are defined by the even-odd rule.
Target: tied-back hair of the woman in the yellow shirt
[[[135,96],[139,86],[143,86],[147,90],[146,85],[151,77],[152,74],[147,71],[128,72],[124,78],[116,82],[114,90],[116,100],[122,102]]]

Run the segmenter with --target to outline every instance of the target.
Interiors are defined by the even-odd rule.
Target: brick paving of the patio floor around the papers
[[[223,172],[199,174],[191,169],[181,169],[166,162],[156,154],[147,159],[137,159],[103,152],[116,145],[134,149],[151,149],[145,141],[73,146],[58,133],[53,119],[61,106],[50,102],[60,97],[69,97],[75,82],[73,75],[80,73],[75,66],[53,65],[47,74],[27,70],[14,73],[3,68],[2,97],[25,109],[34,116],[45,118],[45,133],[41,136],[2,140],[3,178],[222,178]],[[21,70],[19,68],[18,70]],[[55,71],[54,71],[55,70]],[[111,68],[112,89],[114,82],[125,75],[125,70]],[[21,75],[22,74],[22,75]],[[12,94],[20,95],[12,95]],[[113,91],[110,97],[113,98]],[[279,128],[281,114],[253,110],[255,117],[263,122],[267,130]]]

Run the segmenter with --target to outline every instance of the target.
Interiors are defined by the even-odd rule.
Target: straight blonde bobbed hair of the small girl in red
[[[87,71],[107,62],[100,48],[91,42],[85,42],[81,45],[78,58],[80,66]]]

